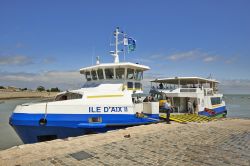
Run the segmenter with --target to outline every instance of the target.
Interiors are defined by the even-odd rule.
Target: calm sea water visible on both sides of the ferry
[[[22,144],[9,125],[9,117],[16,105],[35,102],[38,99],[0,100],[0,150]],[[250,119],[250,95],[224,95],[228,117]]]

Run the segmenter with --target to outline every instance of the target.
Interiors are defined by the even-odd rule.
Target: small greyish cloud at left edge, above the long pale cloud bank
[[[31,64],[32,59],[24,55],[1,56],[0,65],[26,65]]]

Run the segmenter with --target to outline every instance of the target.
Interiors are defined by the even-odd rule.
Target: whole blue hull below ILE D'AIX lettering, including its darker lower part
[[[101,117],[102,122],[89,123],[92,117]],[[155,123],[159,115],[139,118],[135,114],[47,114],[47,123],[41,125],[43,118],[44,114],[13,113],[10,124],[24,143],[35,143]]]

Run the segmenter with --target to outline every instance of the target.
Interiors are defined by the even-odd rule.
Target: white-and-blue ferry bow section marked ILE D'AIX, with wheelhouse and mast
[[[100,63],[80,69],[86,83],[81,89],[59,93],[53,101],[18,105],[9,123],[24,143],[63,139],[100,133],[159,121],[159,103],[141,98],[145,65],[120,62],[116,28],[113,63]],[[135,44],[132,41],[132,44]],[[125,46],[129,45],[125,44]],[[120,46],[121,47],[121,46]]]

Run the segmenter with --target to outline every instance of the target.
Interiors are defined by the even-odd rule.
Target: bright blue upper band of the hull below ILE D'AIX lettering
[[[46,126],[61,126],[77,128],[80,126],[86,126],[89,123],[89,118],[101,117],[104,124],[133,124],[133,123],[147,123],[154,122],[159,119],[158,114],[147,115],[145,118],[137,118],[133,114],[47,114]],[[22,126],[39,126],[39,120],[44,118],[44,114],[24,114],[13,113],[10,117],[10,123],[12,125]],[[155,118],[152,119],[152,118]],[[84,125],[85,124],[85,125]],[[93,125],[94,127],[94,125]]]

